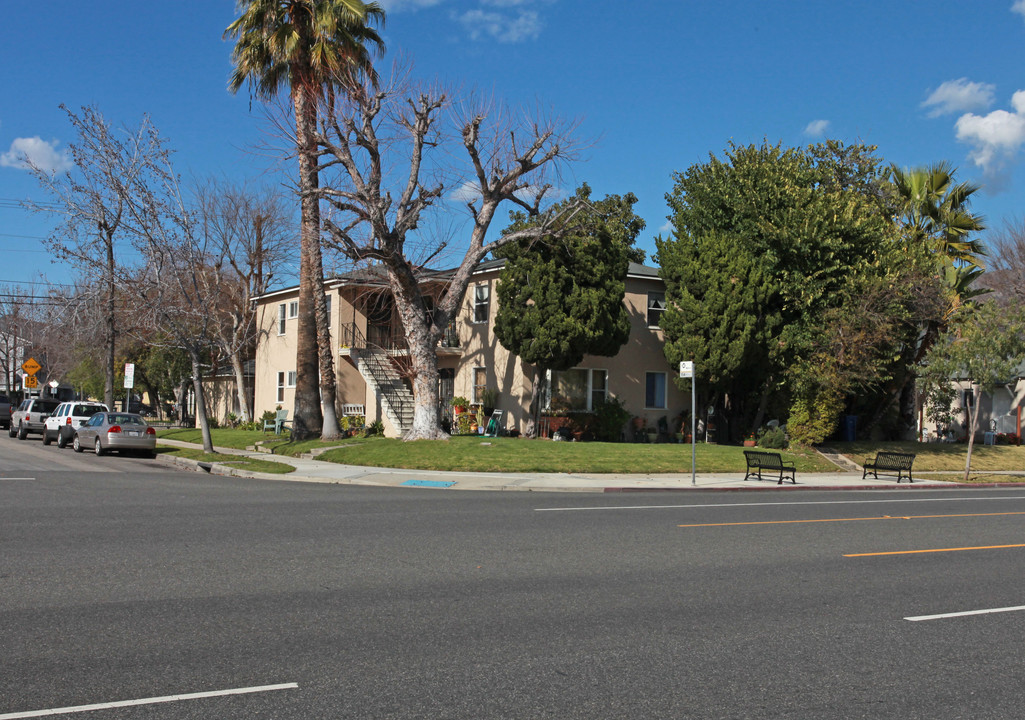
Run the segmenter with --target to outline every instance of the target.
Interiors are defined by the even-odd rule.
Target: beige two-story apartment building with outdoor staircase
[[[533,386],[532,366],[505,350],[494,333],[496,284],[501,261],[479,266],[462,310],[438,349],[442,402],[453,396],[478,402],[485,389],[498,393],[505,429],[526,426]],[[428,273],[422,282],[444,287],[447,272]],[[336,349],[338,413],[344,405],[365,407],[367,422],[381,419],[385,434],[401,435],[412,421],[413,398],[402,379],[408,352],[387,283],[372,272],[327,280],[331,342]],[[592,409],[600,400],[618,398],[649,426],[689,407],[672,382],[662,353],[658,327],[664,309],[664,284],[658,271],[630,264],[623,299],[630,316],[630,336],[615,357],[587,356],[567,371],[552,372],[550,395],[573,410]],[[295,392],[295,341],[298,288],[257,298],[261,334],[255,363],[255,410],[292,408]]]

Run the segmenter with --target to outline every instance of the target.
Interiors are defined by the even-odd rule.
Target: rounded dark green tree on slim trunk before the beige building
[[[629,338],[626,271],[631,259],[643,259],[633,242],[645,225],[633,213],[636,202],[632,194],[591,202],[584,185],[563,203],[581,207],[565,235],[522,240],[495,253],[505,258],[495,336],[534,366],[529,436],[536,430],[548,370],[568,370],[585,355],[615,355]],[[523,213],[512,219],[512,232],[533,225]]]

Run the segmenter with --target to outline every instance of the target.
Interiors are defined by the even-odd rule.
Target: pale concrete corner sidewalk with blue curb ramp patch
[[[201,448],[201,445],[177,440],[158,440],[161,445]],[[207,470],[219,475],[280,480],[288,482],[325,482],[350,485],[378,485],[387,487],[422,487],[453,490],[527,490],[535,492],[642,492],[665,490],[799,490],[799,489],[895,489],[901,488],[950,488],[965,487],[957,482],[920,481],[913,484],[902,482],[899,486],[893,478],[862,479],[861,473],[798,473],[796,484],[787,480],[777,485],[775,480],[747,480],[743,473],[699,473],[695,478],[688,473],[665,475],[604,475],[577,473],[465,473],[434,470],[403,470],[391,468],[366,468],[354,465],[338,465],[304,457],[288,457],[253,450],[237,450],[230,447],[215,447],[217,452],[245,455],[258,459],[274,461],[290,465],[295,472],[287,475],[253,473],[231,466],[199,464],[178,457],[158,457],[163,463]],[[951,474],[957,477],[958,474]]]

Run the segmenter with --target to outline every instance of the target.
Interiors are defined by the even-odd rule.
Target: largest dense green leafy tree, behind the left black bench
[[[657,241],[671,308],[666,358],[700,354],[698,387],[710,389],[712,402],[729,393],[737,408],[758,391],[758,410],[747,413],[756,425],[772,393],[825,397],[810,382],[817,370],[809,358],[826,314],[856,303],[859,278],[893,259],[873,152],[835,142],[731,145],[723,159],[674,175],[666,196],[672,237]],[[845,383],[830,396],[848,390]],[[825,404],[826,425],[834,424],[837,403]]]

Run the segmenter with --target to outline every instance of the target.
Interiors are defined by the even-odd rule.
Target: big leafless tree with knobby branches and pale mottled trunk
[[[567,124],[547,118],[517,121],[497,108],[454,106],[444,92],[393,86],[331,98],[320,113],[320,195],[333,212],[326,243],[357,265],[380,265],[409,345],[413,426],[407,440],[441,439],[437,348],[455,318],[470,275],[493,249],[524,237],[557,234],[576,211],[541,214],[545,174],[569,159]],[[453,167],[463,158],[462,177]],[[446,183],[446,177],[451,182]],[[422,271],[446,242],[417,246],[425,213],[446,191],[458,191],[469,211],[469,237],[451,280],[428,312]],[[511,203],[540,219],[527,230],[488,240],[495,213]]]

